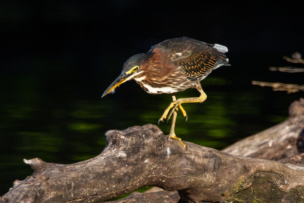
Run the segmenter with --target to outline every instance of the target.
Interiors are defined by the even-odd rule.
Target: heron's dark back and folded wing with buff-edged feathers
[[[174,65],[181,68],[190,80],[202,80],[222,65],[230,65],[225,52],[228,48],[219,44],[208,44],[188,37],[180,37],[151,47],[149,52],[161,51]]]

